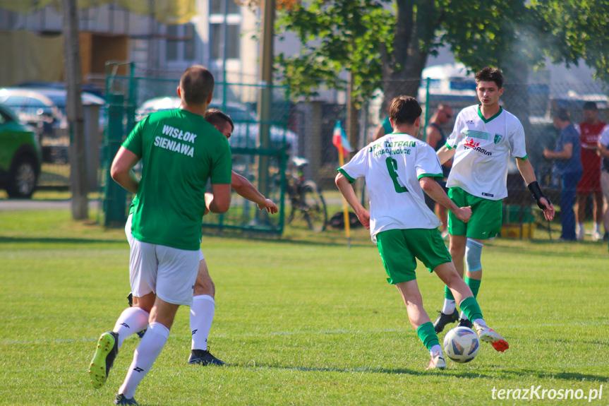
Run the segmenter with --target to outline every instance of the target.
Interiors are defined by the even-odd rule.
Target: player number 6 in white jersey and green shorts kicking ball
[[[417,258],[449,287],[461,310],[474,321],[481,341],[497,351],[507,350],[507,341],[486,325],[471,289],[455,270],[438,230],[440,220],[425,204],[423,190],[462,222],[471,217],[471,208],[455,205],[433,179],[442,177],[442,168],[433,148],[416,138],[421,106],[413,97],[394,98],[390,122],[393,133],[370,143],[339,168],[336,184],[362,225],[370,229],[387,282],[402,295],[409,321],[430,352],[426,369],[444,369],[446,361],[438,335],[423,309],[416,283]],[[351,186],[358,177],[366,178],[370,211],[359,203]]]

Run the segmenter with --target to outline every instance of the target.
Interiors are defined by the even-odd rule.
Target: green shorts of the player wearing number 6
[[[392,285],[416,279],[416,258],[429,272],[452,261],[437,228],[389,229],[376,234],[376,243]]]

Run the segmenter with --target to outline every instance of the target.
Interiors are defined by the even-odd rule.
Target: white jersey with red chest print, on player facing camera
[[[457,148],[446,186],[494,201],[507,196],[509,154],[526,158],[522,124],[502,108],[490,119],[479,105],[462,109],[446,146]]]

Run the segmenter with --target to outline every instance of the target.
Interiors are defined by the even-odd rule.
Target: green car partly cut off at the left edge
[[[35,131],[0,104],[0,188],[6,189],[8,197],[32,197],[41,159]]]

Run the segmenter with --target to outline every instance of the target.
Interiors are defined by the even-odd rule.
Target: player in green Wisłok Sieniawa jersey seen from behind
[[[177,89],[180,108],[140,121],[112,162],[112,179],[138,193],[129,261],[134,306],[125,309],[114,330],[98,341],[89,369],[94,387],[106,382],[123,340],[148,327],[116,405],[137,404],[135,390],[167,342],[177,309],[192,306],[205,210],[229,209],[229,144],[203,117],[213,89],[214,78],[207,68],[186,69]],[[143,169],[138,180],[131,169],[140,160]],[[205,193],[209,179],[212,193]]]

